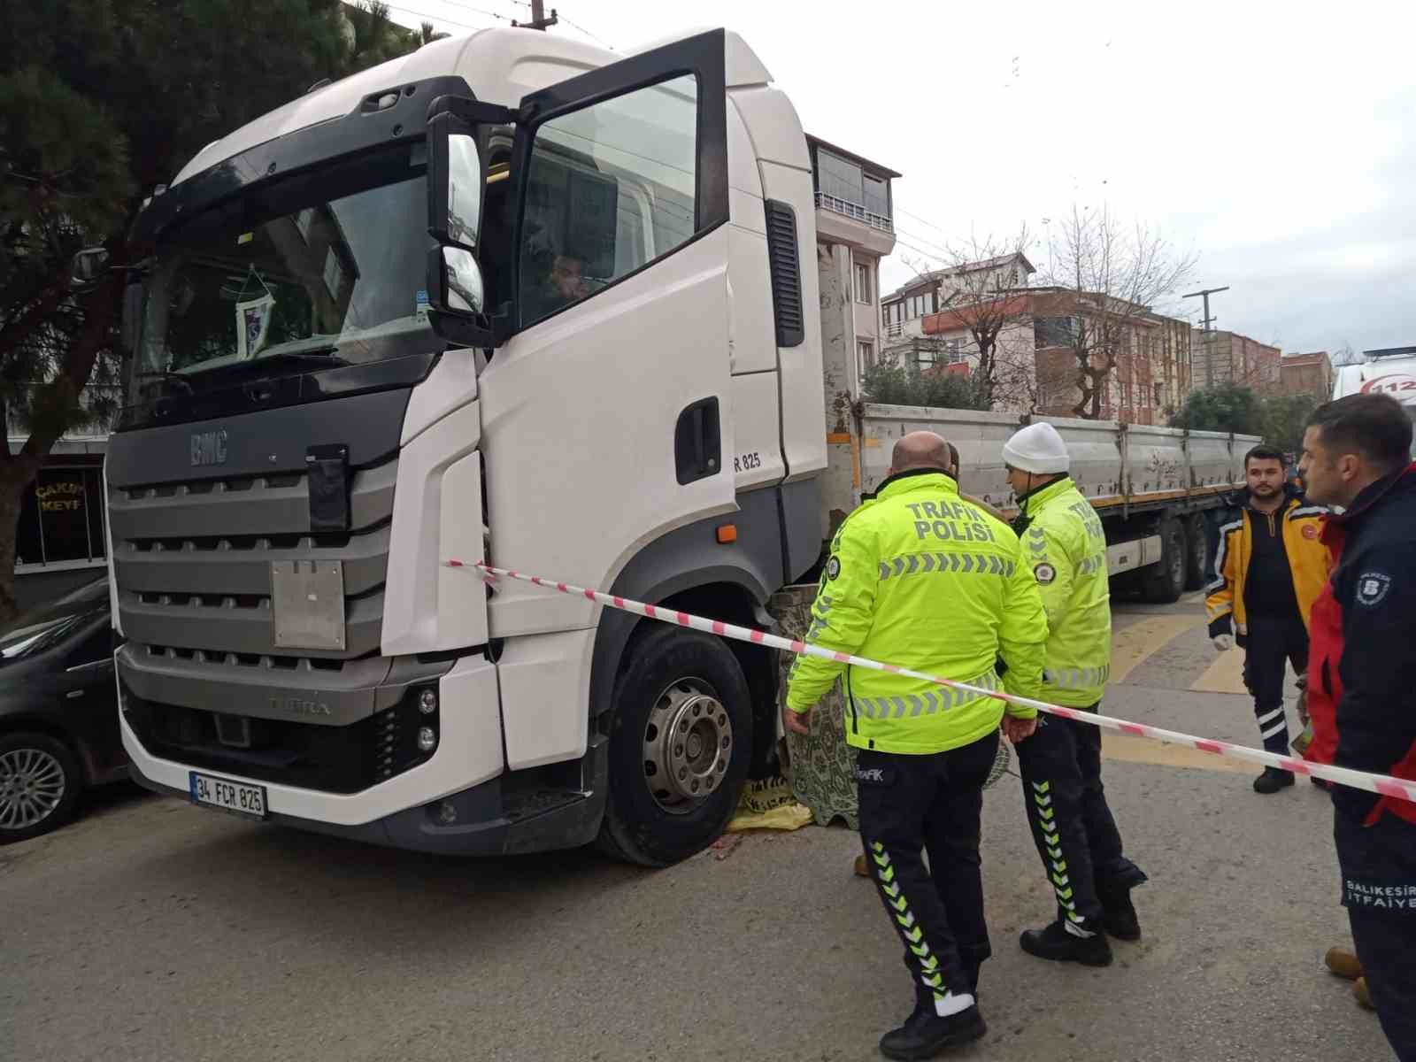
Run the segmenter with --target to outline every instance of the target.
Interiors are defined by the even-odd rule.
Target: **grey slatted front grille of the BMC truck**
[[[378,651],[398,462],[355,472],[350,531],[312,534],[303,473],[115,487],[109,525],[123,633],[164,654],[242,667]],[[276,650],[270,564],[340,561],[346,649]],[[268,667],[272,664],[266,664]],[[280,666],[280,664],[273,664]]]

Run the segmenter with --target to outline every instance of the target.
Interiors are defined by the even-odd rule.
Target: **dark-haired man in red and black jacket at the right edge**
[[[1313,605],[1308,712],[1318,763],[1416,779],[1416,464],[1391,395],[1318,406],[1303,436],[1308,500],[1341,506]],[[1416,1062],[1416,804],[1332,786],[1342,903],[1400,1062]]]

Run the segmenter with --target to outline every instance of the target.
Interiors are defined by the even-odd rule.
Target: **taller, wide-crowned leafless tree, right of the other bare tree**
[[[1070,374],[1079,392],[1072,413],[1100,419],[1117,357],[1154,306],[1172,295],[1194,270],[1197,255],[1177,251],[1157,229],[1121,224],[1107,207],[1072,207],[1048,238],[1045,299],[1048,317],[1059,321],[1039,336],[1069,351],[1066,370],[1051,364],[1039,377],[1055,382]],[[1041,316],[1041,312],[1039,312]]]

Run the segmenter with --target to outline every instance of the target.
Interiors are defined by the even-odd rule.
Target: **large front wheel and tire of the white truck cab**
[[[658,624],[656,624],[658,626]],[[668,867],[722,833],[752,760],[752,695],[721,639],[658,627],[615,684],[600,851]]]

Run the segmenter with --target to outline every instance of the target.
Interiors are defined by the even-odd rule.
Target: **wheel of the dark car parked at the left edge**
[[[48,733],[0,735],[0,844],[64,826],[82,790],[84,773],[68,745]]]

